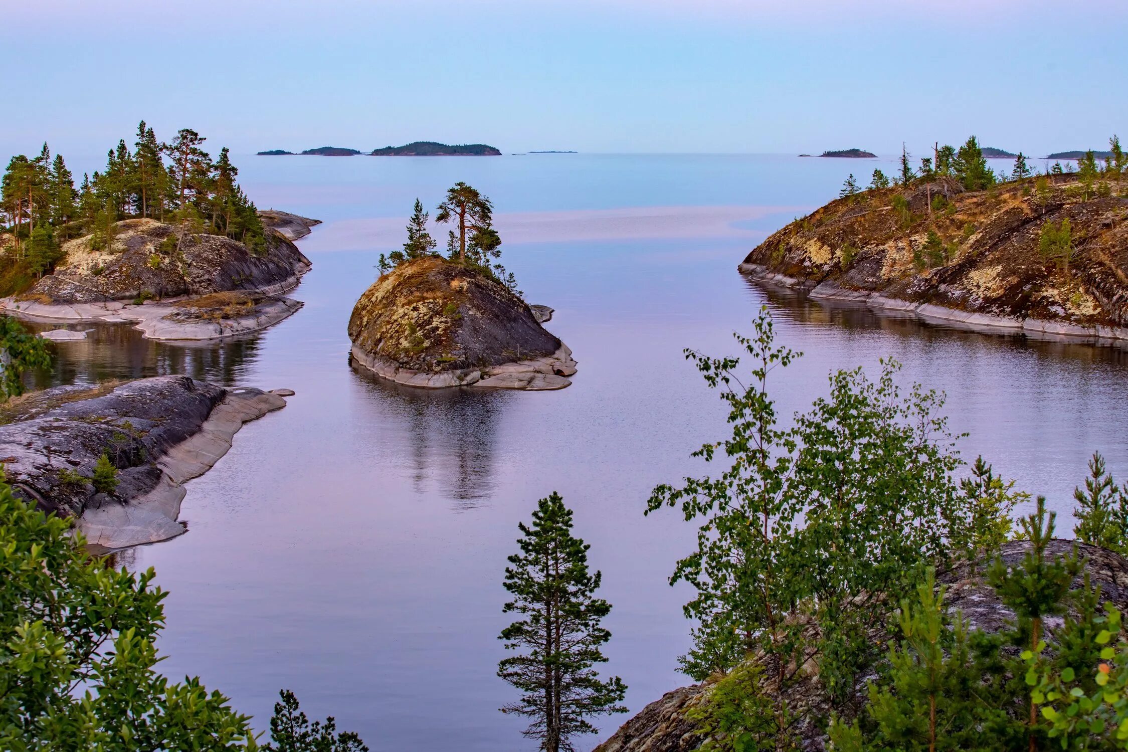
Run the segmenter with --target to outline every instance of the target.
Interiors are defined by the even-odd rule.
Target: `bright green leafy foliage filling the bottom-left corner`
[[[82,546],[67,520],[0,481],[0,749],[259,749],[250,718],[223,695],[156,671],[166,593],[153,570],[114,569]],[[307,727],[288,692],[276,713],[266,749],[367,749],[355,735],[336,736],[332,719]]]

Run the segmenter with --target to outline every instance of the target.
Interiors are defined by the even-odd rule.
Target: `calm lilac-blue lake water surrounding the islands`
[[[892,171],[892,161],[881,167]],[[280,688],[311,717],[333,714],[374,751],[529,750],[497,708],[494,674],[505,557],[517,523],[553,490],[575,510],[614,610],[606,671],[632,710],[686,683],[689,645],[667,584],[693,527],[643,517],[660,483],[700,466],[724,413],[681,350],[734,352],[767,303],[805,355],[772,388],[782,413],[827,391],[832,369],[891,355],[948,392],[966,458],[1046,494],[1068,532],[1070,494],[1093,450],[1128,476],[1128,352],[968,334],[828,307],[741,277],[768,232],[837,195],[867,160],[772,156],[503,158],[243,157],[259,207],[325,221],[300,242],[314,268],[305,308],[238,342],[178,346],[105,326],[60,343],[55,382],[188,373],[297,391],[248,424],[188,484],[188,532],[125,552],[157,568],[173,676],[199,674],[265,728]],[[350,368],[345,326],[381,250],[403,242],[418,196],[434,206],[466,180],[493,198],[504,263],[580,372],[557,392],[420,391]],[[606,736],[625,717],[601,719]],[[581,741],[590,749],[598,740]]]

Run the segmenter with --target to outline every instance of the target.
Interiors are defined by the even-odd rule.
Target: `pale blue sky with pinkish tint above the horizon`
[[[1123,0],[0,0],[0,158],[146,120],[235,153],[1031,156],[1128,136]]]

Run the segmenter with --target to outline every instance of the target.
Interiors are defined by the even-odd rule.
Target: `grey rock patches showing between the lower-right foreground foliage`
[[[1128,560],[1096,546],[1060,539],[1050,541],[1048,556],[1068,556],[1074,546],[1078,556],[1085,560],[1085,570],[1090,574],[1092,585],[1101,589],[1102,601],[1112,601],[1121,610],[1128,608]],[[1007,565],[1014,566],[1029,550],[1030,541],[1011,541],[1003,546],[999,556]],[[994,589],[984,582],[981,573],[986,564],[986,560],[978,561],[976,572],[972,572],[970,565],[963,564],[937,575],[936,581],[948,587],[944,603],[950,614],[962,613],[972,628],[997,632],[1006,628],[1007,621],[1014,618],[1014,612],[1003,605]],[[1083,574],[1074,582],[1075,589],[1082,586]],[[1054,639],[1054,628],[1060,625],[1060,617],[1047,619],[1049,640]],[[770,673],[765,672],[766,675]],[[699,749],[705,740],[697,733],[696,724],[687,714],[707,700],[712,683],[706,680],[700,684],[666,693],[623,724],[594,752],[691,752]],[[770,683],[765,689],[769,693],[774,691]],[[865,702],[865,687],[860,687],[856,698],[860,708]],[[822,727],[829,718],[830,707],[818,682],[811,676],[802,676],[777,696],[786,701],[793,713],[803,716],[795,725],[801,749],[822,752],[826,749]]]

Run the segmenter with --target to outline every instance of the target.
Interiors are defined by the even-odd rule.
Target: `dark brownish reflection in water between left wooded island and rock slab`
[[[34,331],[56,325],[25,322]],[[69,383],[99,383],[108,379],[140,379],[178,373],[224,387],[246,380],[258,360],[262,331],[220,342],[157,342],[146,339],[130,324],[81,324],[68,329],[86,331],[86,339],[56,342],[54,369],[28,374],[28,389]]]

